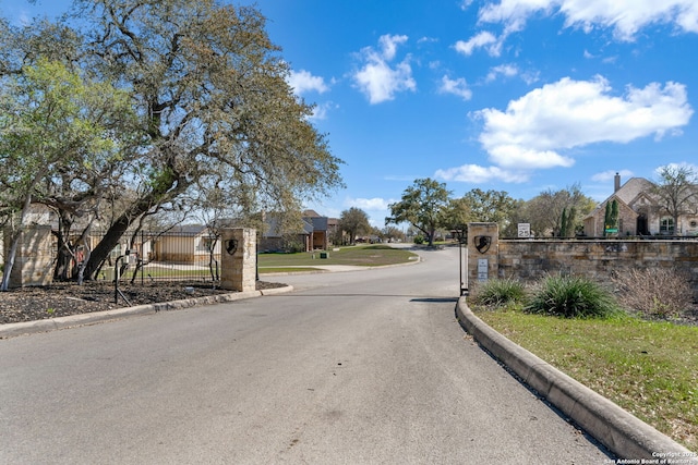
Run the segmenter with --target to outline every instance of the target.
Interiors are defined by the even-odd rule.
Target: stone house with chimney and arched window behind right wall
[[[698,215],[682,215],[678,227],[653,194],[654,183],[643,178],[631,178],[621,185],[615,174],[614,192],[585,218],[585,234],[604,235],[606,204],[616,200],[618,206],[617,235],[698,235]],[[614,233],[615,235],[615,233]]]

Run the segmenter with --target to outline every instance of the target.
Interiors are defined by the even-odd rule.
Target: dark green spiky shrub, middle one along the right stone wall
[[[609,318],[621,313],[610,290],[582,277],[545,278],[525,310],[566,318]]]

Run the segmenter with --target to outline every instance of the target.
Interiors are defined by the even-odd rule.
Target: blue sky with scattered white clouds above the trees
[[[256,0],[346,188],[383,228],[417,179],[528,200],[698,171],[698,0]],[[70,0],[0,0],[14,23]]]

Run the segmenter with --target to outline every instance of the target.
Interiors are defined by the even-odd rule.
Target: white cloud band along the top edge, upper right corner
[[[480,9],[482,23],[502,23],[505,32],[521,30],[526,21],[540,13],[565,16],[566,27],[590,32],[612,28],[619,40],[633,40],[650,24],[671,24],[686,33],[698,33],[695,0],[501,0]]]

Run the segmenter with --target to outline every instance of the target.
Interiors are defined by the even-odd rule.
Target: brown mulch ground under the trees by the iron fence
[[[257,281],[257,290],[280,287],[286,284]],[[185,287],[193,287],[188,292]],[[229,294],[231,291],[213,289],[210,283],[155,282],[145,284],[120,284],[119,289],[132,305],[155,304]],[[22,287],[0,293],[0,325],[34,321],[69,315],[103,311],[128,307],[122,297],[115,303],[112,283],[86,282],[53,284],[46,287]]]

